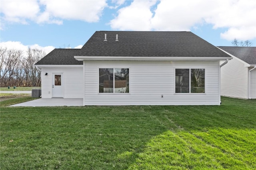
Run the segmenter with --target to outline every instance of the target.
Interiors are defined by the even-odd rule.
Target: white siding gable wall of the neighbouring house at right
[[[221,67],[221,96],[248,98],[248,68],[237,59]]]

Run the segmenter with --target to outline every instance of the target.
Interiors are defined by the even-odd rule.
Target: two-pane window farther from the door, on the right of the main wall
[[[177,68],[175,70],[175,93],[205,93],[204,77],[204,68]]]

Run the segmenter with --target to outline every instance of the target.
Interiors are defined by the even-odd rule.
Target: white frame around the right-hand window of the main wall
[[[206,68],[205,67],[176,67],[174,68],[174,94],[176,95],[206,95]],[[188,93],[176,93],[176,69],[189,69],[189,92]],[[204,93],[192,93],[191,92],[191,69],[204,69]]]

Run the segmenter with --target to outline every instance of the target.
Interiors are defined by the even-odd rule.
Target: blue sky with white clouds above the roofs
[[[0,0],[0,46],[80,48],[95,31],[192,31],[256,46],[255,0]]]

